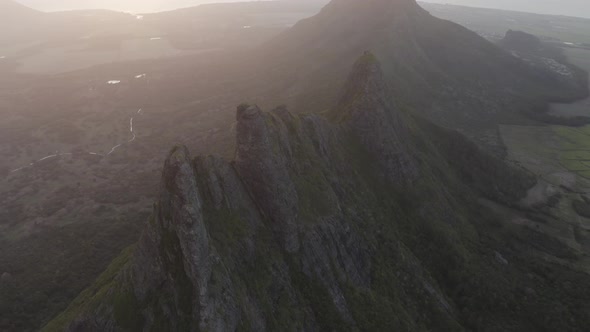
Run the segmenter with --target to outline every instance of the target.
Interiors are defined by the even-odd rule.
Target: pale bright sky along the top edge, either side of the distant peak
[[[245,0],[17,0],[41,10],[107,8],[131,12],[159,11],[208,2]],[[293,0],[297,1],[297,0]],[[324,1],[324,0],[318,0]],[[358,0],[363,1],[363,0]],[[474,7],[500,8],[590,18],[590,0],[424,0]]]

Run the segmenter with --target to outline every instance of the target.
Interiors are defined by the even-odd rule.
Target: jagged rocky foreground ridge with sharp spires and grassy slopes
[[[588,324],[588,280],[535,258],[476,200],[514,203],[533,179],[401,111],[371,54],[345,91],[327,118],[240,106],[231,163],[173,149],[134,252],[45,330]],[[575,279],[578,295],[546,287],[553,273]]]

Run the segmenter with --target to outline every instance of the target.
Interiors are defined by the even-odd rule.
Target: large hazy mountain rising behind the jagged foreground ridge
[[[383,61],[400,102],[497,152],[502,150],[498,123],[530,122],[531,104],[587,93],[581,84],[572,88],[555,75],[540,75],[476,33],[431,16],[413,0],[334,0],[275,38],[265,57],[281,59],[272,81],[287,76],[299,82],[282,96],[295,96],[295,105],[309,111],[332,105],[346,68],[365,50]]]

